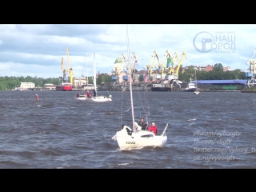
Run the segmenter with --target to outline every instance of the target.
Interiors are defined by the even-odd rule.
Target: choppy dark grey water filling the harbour
[[[35,94],[39,100],[36,101]],[[0,91],[1,169],[253,169],[256,94],[134,91],[135,120],[155,122],[166,146],[119,150],[131,126],[130,92],[110,103],[75,91]]]

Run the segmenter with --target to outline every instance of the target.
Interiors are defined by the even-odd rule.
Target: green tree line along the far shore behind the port
[[[182,73],[182,66],[178,71],[178,79],[182,82],[189,82],[190,78],[194,79],[195,66],[189,66],[184,73]],[[221,63],[216,63],[211,71],[197,71],[198,80],[228,80],[228,79],[246,79],[245,72],[241,70],[223,71]],[[139,82],[143,81],[143,75],[138,78]],[[59,78],[38,78],[36,77],[0,77],[0,90],[14,90],[15,87],[19,87],[21,82],[34,82],[36,87],[43,87],[47,83],[54,85],[60,85],[62,83],[62,77]],[[93,84],[93,77],[88,77],[88,82]],[[96,80],[97,85],[101,85],[102,82],[112,82],[111,75],[99,74]]]

